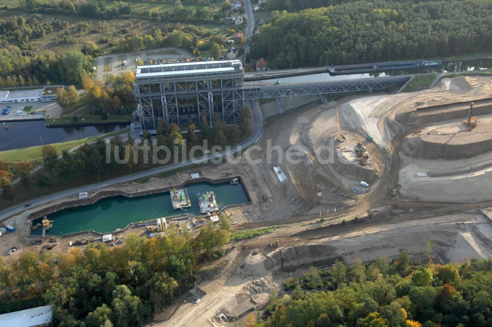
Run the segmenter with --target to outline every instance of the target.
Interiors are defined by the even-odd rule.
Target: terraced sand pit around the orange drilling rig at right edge
[[[492,117],[481,116],[467,131],[462,120],[433,125],[407,135],[401,142],[405,155],[421,159],[462,159],[492,151]]]

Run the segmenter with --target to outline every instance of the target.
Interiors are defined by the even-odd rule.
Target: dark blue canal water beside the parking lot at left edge
[[[47,128],[43,120],[6,122],[5,125],[8,130],[0,125],[0,151],[73,141],[127,128],[126,125]]]

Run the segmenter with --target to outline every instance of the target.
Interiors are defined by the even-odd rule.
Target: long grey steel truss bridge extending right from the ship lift
[[[283,113],[284,98],[349,92],[373,92],[402,86],[409,79],[410,75],[401,75],[296,84],[245,83],[244,98],[245,100],[276,98],[278,111]]]

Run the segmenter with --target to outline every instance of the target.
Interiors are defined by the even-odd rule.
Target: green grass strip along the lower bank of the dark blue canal
[[[61,154],[63,150],[70,150],[75,148],[76,146],[89,143],[97,140],[98,138],[108,137],[120,133],[124,133],[125,131],[115,131],[103,135],[91,136],[82,138],[79,140],[73,140],[62,143],[54,143],[51,144],[55,149],[57,149],[58,154]],[[10,150],[10,151],[2,151],[0,152],[0,160],[5,162],[20,162],[20,161],[35,161],[41,159],[41,151],[42,146],[33,146],[30,148]]]

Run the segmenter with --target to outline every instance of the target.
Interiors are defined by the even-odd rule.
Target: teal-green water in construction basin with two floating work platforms
[[[191,207],[185,212],[199,216],[200,210],[196,194],[214,191],[219,209],[226,205],[248,202],[241,184],[231,185],[196,183],[186,186],[191,200]],[[64,235],[68,233],[95,230],[100,233],[124,228],[132,222],[152,220],[183,214],[184,211],[174,210],[169,192],[150,196],[127,198],[124,196],[106,197],[94,204],[64,209],[48,216],[53,221],[53,228],[46,235]],[[41,223],[42,218],[32,222],[32,226]],[[31,231],[33,235],[41,235],[41,228]]]

